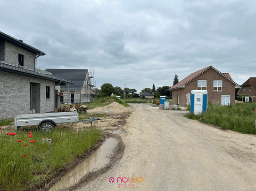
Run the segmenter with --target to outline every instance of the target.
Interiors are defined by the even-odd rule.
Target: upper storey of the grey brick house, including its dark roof
[[[0,31],[0,62],[36,71],[36,59],[45,53]]]

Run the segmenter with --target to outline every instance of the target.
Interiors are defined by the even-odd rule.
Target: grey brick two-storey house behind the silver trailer
[[[74,82],[37,69],[41,50],[0,31],[0,119],[53,112],[60,85]]]

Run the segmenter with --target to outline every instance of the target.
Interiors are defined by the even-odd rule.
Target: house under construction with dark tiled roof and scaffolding
[[[53,76],[68,79],[75,82],[75,84],[61,86],[60,92],[63,93],[61,102],[67,103],[90,103],[92,87],[87,69],[46,69],[51,72]]]

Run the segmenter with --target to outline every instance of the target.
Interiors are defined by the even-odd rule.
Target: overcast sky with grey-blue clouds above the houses
[[[46,55],[40,69],[92,69],[96,87],[172,86],[213,66],[256,76],[255,0],[1,0],[0,31]]]

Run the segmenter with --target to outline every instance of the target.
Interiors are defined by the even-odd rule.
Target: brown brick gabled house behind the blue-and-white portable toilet
[[[221,101],[222,105],[235,104],[235,89],[240,88],[229,73],[221,73],[212,66],[198,70],[173,85],[173,104],[186,106],[186,94],[192,90],[207,90],[208,102]]]

